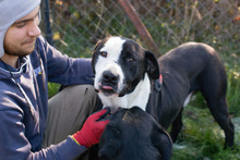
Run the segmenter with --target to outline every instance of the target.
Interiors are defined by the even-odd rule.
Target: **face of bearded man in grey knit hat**
[[[40,35],[38,13],[39,7],[9,27],[3,42],[7,54],[23,57],[34,51],[36,38]]]

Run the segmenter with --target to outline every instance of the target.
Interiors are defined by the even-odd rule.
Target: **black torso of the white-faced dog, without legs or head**
[[[218,53],[207,45],[183,44],[158,58],[158,65],[163,76],[161,90],[151,94],[147,112],[165,128],[172,124],[190,93],[226,94],[224,65]],[[155,107],[156,102],[158,107]]]

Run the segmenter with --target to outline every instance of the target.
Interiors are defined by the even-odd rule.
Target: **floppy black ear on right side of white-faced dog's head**
[[[157,59],[148,50],[145,51],[145,70],[148,73],[148,76],[153,79],[159,78],[159,66],[157,63]]]

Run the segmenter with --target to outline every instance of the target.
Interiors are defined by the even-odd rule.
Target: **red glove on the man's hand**
[[[76,144],[86,146],[87,148],[98,144],[105,126],[109,122],[109,120],[100,119],[104,119],[109,112],[109,109],[104,109],[87,118],[82,130],[72,135],[72,138],[76,141]]]

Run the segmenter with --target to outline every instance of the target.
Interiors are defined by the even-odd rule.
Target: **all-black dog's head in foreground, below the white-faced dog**
[[[170,159],[170,136],[148,113],[133,107],[119,109],[100,138],[98,156],[105,160]]]

